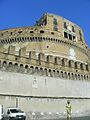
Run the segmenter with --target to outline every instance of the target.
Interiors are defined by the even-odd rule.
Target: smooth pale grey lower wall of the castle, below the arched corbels
[[[0,71],[0,104],[5,107],[64,113],[68,99],[73,113],[89,111],[90,83]]]

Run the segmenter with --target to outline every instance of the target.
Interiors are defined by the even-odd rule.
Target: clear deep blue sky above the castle
[[[0,0],[0,30],[33,26],[46,12],[79,25],[90,48],[90,0]]]

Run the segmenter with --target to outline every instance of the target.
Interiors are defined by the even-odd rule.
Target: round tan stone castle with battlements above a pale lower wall
[[[90,110],[90,49],[82,29],[45,13],[32,27],[0,30],[0,104],[32,117]]]

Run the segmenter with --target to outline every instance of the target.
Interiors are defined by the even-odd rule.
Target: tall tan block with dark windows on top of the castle
[[[62,34],[65,39],[73,42],[85,43],[82,29],[75,23],[55,14],[45,13],[36,26],[43,26],[51,31],[57,31]]]

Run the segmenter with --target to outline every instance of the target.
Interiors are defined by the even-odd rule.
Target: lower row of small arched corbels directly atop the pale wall
[[[61,70],[53,70],[53,69],[44,69],[40,67],[35,67],[35,66],[28,66],[25,64],[20,64],[20,63],[12,63],[12,62],[7,62],[3,61],[0,62],[0,69],[2,71],[8,71],[8,72],[19,72],[19,73],[27,73],[27,74],[36,74],[40,76],[49,76],[49,77],[60,77],[60,78],[67,78],[67,79],[79,79],[79,80],[89,80],[89,74],[87,75],[82,75],[78,73],[72,73],[72,72],[65,72]]]

